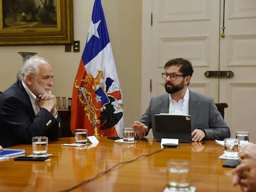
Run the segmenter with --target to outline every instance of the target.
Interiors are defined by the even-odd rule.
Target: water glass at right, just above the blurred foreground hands
[[[239,151],[239,139],[237,138],[224,138],[224,156],[236,158]]]

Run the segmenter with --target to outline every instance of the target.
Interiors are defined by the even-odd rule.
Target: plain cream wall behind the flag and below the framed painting
[[[141,78],[141,12],[140,0],[102,0],[112,44],[117,73],[124,94],[126,126],[140,118]],[[0,91],[14,83],[23,64],[17,53],[38,52],[54,69],[53,93],[72,96],[72,85],[92,17],[93,0],[74,0],[74,40],[80,41],[80,52],[65,52],[64,45],[0,46]]]

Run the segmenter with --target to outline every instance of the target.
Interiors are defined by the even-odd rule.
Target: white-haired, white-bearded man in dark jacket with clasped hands
[[[43,57],[30,57],[19,78],[0,96],[0,144],[5,148],[32,143],[33,136],[57,139],[62,126],[51,94],[51,65]]]

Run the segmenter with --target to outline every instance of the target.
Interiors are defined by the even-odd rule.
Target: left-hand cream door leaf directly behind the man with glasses
[[[194,66],[190,89],[218,99],[218,79],[203,75],[206,70],[218,70],[218,6],[218,1],[153,0],[151,96],[164,93],[163,65],[183,57]]]

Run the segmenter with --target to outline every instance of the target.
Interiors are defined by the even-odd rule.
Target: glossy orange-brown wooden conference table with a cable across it
[[[49,142],[51,161],[0,162],[0,191],[163,191],[169,159],[189,159],[191,185],[196,191],[240,191],[239,186],[232,185],[232,169],[222,167],[225,160],[218,159],[223,153],[222,146],[215,141],[205,141],[203,145],[179,143],[179,148],[164,149],[117,165],[158,151],[160,143],[153,138],[137,140],[134,144],[115,143],[106,137],[98,140],[100,143],[95,147],[77,148],[61,146],[74,143],[74,138],[60,138]],[[25,149],[26,155],[32,153],[30,144],[12,148]],[[103,174],[111,167],[114,168]],[[87,182],[70,190],[84,180]]]

